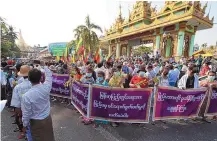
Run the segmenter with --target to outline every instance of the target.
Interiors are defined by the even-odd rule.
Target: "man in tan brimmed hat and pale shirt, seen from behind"
[[[20,122],[22,117],[21,111],[21,100],[22,96],[31,88],[31,83],[28,80],[28,73],[30,71],[30,67],[27,65],[23,65],[20,68],[20,71],[17,73],[19,77],[23,77],[24,80],[22,83],[16,85],[13,90],[12,99],[11,99],[11,106],[15,107],[15,114],[16,114],[16,123],[20,131],[22,131],[23,125]],[[20,139],[25,136],[24,133],[21,133]]]

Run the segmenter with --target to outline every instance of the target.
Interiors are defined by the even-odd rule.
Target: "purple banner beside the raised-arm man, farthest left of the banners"
[[[56,74],[52,75],[52,88],[51,95],[63,98],[70,98],[70,89],[65,86],[65,83],[69,80],[68,74]]]

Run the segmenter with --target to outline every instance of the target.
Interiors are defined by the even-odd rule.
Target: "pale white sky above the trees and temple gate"
[[[21,29],[27,44],[43,46],[74,39],[73,29],[84,24],[87,14],[103,30],[108,29],[118,16],[119,5],[123,16],[128,17],[134,3],[114,0],[0,0],[0,16],[17,31]],[[152,6],[158,9],[163,4],[163,1],[152,2]],[[214,22],[217,23],[217,1],[208,3],[206,12],[209,10],[210,18],[215,16]],[[212,29],[197,32],[195,43],[201,45],[205,42],[216,44],[217,24]]]

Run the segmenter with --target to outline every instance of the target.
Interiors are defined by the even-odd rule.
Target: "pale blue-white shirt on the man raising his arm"
[[[45,82],[32,86],[22,97],[21,110],[24,127],[29,124],[30,119],[42,120],[50,115],[52,72],[47,66],[44,67],[44,70]]]

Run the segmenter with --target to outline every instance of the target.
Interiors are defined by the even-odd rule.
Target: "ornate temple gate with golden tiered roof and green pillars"
[[[199,30],[213,27],[214,17],[205,14],[207,3],[201,6],[199,1],[166,1],[157,12],[147,1],[137,1],[129,17],[124,19],[121,13],[116,18],[101,45],[107,45],[109,54],[116,57],[131,55],[132,47],[153,43],[153,52],[159,52],[165,58],[189,57],[194,51],[195,34]],[[123,50],[126,50],[124,54]]]

